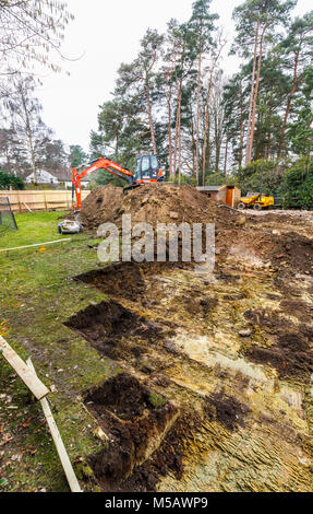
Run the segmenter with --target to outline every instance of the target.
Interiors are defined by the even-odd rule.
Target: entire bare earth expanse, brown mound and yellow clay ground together
[[[311,491],[313,220],[239,213],[188,186],[142,187],[97,218],[107,192],[92,195],[88,229],[122,213],[216,225],[212,273],[130,262],[76,278],[104,302],[68,326],[122,370],[84,392],[105,433],[88,457],[100,487]]]

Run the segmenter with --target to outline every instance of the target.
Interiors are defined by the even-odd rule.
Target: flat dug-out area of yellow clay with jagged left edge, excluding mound
[[[77,280],[111,301],[67,325],[124,370],[84,395],[108,435],[88,458],[106,490],[312,489],[308,376],[255,357],[279,342],[260,308],[280,340],[296,330],[268,271],[237,256],[214,277],[127,264]]]

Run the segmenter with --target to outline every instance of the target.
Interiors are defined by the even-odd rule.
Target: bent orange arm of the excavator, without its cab
[[[129,184],[129,186],[132,186],[133,184],[135,184],[134,174],[130,172],[130,170],[120,166],[119,164],[115,163],[113,161],[110,161],[109,159],[105,159],[105,157],[96,159],[95,161],[92,161],[87,165],[87,167],[85,170],[82,170],[81,172],[79,172],[74,167],[73,175],[72,175],[72,183],[73,183],[73,197],[74,197],[74,190],[76,192],[76,203],[74,203],[74,198],[73,198],[73,209],[75,211],[81,210],[81,207],[82,207],[82,178],[84,178],[85,176],[98,170],[106,170],[107,172],[111,173],[116,177],[122,178]]]

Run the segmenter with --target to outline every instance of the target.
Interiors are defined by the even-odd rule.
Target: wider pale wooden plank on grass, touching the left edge
[[[0,354],[1,353],[38,400],[49,394],[48,387],[43,384],[36,373],[29,370],[13,348],[10,347],[9,342],[0,336]]]

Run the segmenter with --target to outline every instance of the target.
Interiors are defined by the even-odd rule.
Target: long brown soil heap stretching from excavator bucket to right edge
[[[93,190],[82,206],[81,221],[86,229],[96,229],[103,223],[122,225],[122,214],[131,214],[132,225],[136,223],[215,223],[216,247],[222,257],[231,244],[239,244],[241,250],[254,250],[264,261],[280,268],[281,262],[298,272],[313,271],[312,240],[296,232],[275,233],[257,230],[265,217],[251,217],[210,200],[191,186],[165,186],[147,184],[129,195],[122,188],[108,185]],[[286,218],[286,217],[285,217]],[[275,220],[279,219],[275,215]],[[243,221],[242,221],[243,220]],[[290,224],[290,227],[292,224]]]

